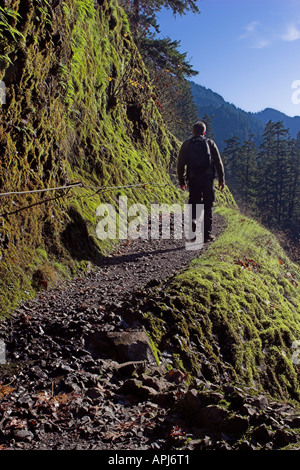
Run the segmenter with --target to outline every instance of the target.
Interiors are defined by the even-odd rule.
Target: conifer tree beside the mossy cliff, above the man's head
[[[180,41],[158,37],[157,12],[198,13],[195,0],[119,0],[130,20],[134,41],[149,71],[154,100],[169,130],[184,139],[197,119],[188,79],[198,74],[181,52]]]

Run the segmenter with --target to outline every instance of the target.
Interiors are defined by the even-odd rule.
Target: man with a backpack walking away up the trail
[[[219,189],[225,186],[224,165],[217,145],[205,137],[206,125],[196,122],[193,137],[183,142],[177,161],[177,176],[183,191],[188,187],[189,204],[192,208],[192,230],[196,230],[196,207],[204,205],[204,242],[215,239],[212,234],[212,213],[215,201],[214,180],[219,180]],[[185,176],[186,170],[186,176]],[[194,237],[196,238],[196,237]]]

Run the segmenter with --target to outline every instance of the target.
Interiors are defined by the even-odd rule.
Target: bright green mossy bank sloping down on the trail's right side
[[[291,345],[300,338],[299,267],[260,224],[228,206],[217,212],[224,232],[166,283],[163,304],[162,288],[151,292],[147,327],[157,347],[178,354],[194,375],[219,381],[226,373],[232,382],[298,399]]]

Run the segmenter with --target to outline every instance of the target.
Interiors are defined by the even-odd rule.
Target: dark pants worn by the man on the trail
[[[202,176],[188,183],[190,197],[189,204],[192,206],[192,219],[196,219],[196,205],[204,205],[204,238],[211,234],[213,204],[215,201],[215,187],[213,176]]]

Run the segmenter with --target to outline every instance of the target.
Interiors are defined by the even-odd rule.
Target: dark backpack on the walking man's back
[[[193,137],[188,146],[187,170],[189,177],[198,176],[212,166],[211,152],[205,137]]]

